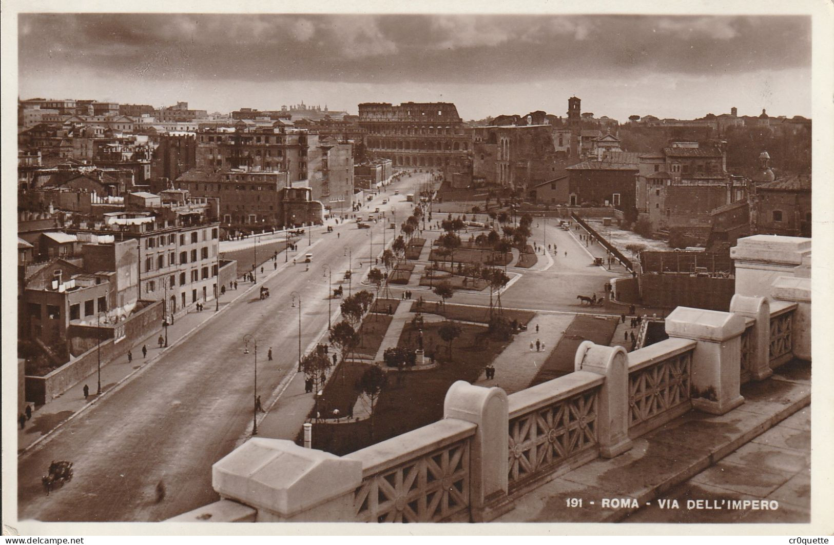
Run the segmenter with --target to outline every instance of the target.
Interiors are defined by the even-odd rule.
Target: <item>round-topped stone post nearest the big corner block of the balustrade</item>
[[[470,508],[473,522],[485,522],[500,512],[488,513],[488,503],[505,502],[509,488],[510,412],[501,388],[483,388],[459,380],[446,392],[443,418],[478,425],[470,447]],[[507,508],[501,511],[506,511]],[[493,509],[495,510],[495,509]]]

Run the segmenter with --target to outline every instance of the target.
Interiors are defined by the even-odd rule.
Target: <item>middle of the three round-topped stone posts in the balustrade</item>
[[[576,349],[574,371],[605,377],[597,407],[600,455],[614,458],[631,448],[628,437],[628,353],[583,341]]]

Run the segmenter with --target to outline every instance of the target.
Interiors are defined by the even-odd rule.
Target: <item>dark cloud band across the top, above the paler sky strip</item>
[[[151,80],[518,82],[808,67],[806,17],[22,14],[20,66]]]

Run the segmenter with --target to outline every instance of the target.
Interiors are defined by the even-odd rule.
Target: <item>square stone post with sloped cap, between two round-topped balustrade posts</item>
[[[692,354],[692,407],[724,414],[744,403],[739,393],[744,329],[744,318],[716,310],[678,307],[666,317],[669,337],[698,343]]]

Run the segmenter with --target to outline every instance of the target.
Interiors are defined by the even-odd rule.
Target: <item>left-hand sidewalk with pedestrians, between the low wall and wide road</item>
[[[273,274],[278,273],[277,270],[269,271],[269,274],[264,274],[264,277],[259,277],[259,282],[271,278]],[[210,301],[205,303],[205,310],[198,312],[196,310],[188,310],[188,313],[183,315],[175,315],[174,322],[168,326],[168,348],[172,348],[174,344],[188,338],[191,333],[200,328],[203,323],[206,323],[213,316],[227,308],[229,304],[243,297],[249,288],[253,288],[257,284],[249,282],[239,282],[237,290],[226,290],[226,293],[220,296],[219,311],[215,312],[215,303]],[[55,428],[61,424],[74,418],[78,413],[83,411],[88,406],[98,402],[98,399],[108,393],[109,390],[118,386],[125,379],[130,377],[133,373],[137,373],[139,369],[146,366],[148,363],[153,363],[159,358],[167,348],[159,348],[158,338],[162,335],[165,337],[163,328],[154,330],[143,339],[130,348],[133,353],[133,361],[128,362],[128,356],[125,354],[119,358],[114,358],[109,362],[102,362],[101,378],[102,378],[102,393],[96,395],[98,388],[98,371],[95,371],[78,381],[73,387],[62,393],[57,398],[54,398],[49,403],[35,408],[32,414],[32,419],[26,423],[26,427],[19,429],[18,426],[18,454],[22,454],[28,448],[47,436]],[[142,357],[142,346],[148,347],[148,357]],[[83,388],[84,385],[89,388],[89,396],[84,399]]]

